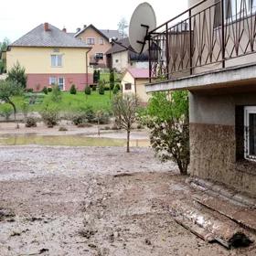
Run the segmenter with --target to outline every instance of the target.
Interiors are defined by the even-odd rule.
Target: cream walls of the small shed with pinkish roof
[[[148,83],[148,79],[134,79],[129,72],[126,72],[121,83],[123,94],[134,93],[142,103],[146,103],[149,100],[150,94],[145,92],[145,84]],[[132,84],[131,90],[125,90],[125,83]]]

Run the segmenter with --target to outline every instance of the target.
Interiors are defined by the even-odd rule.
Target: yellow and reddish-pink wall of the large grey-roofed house
[[[56,50],[59,49],[59,52]],[[11,69],[16,61],[25,67],[27,73],[27,88],[35,91],[49,85],[49,77],[65,79],[65,88],[69,90],[71,83],[75,83],[79,90],[85,84],[91,83],[92,69],[88,67],[86,75],[86,52],[88,48],[20,48],[12,47],[7,51],[7,70]],[[62,55],[62,67],[51,67],[51,55]],[[89,64],[89,62],[88,62]]]

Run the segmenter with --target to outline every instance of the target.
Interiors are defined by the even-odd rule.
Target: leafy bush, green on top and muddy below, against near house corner
[[[189,164],[189,121],[187,91],[175,91],[168,99],[165,92],[156,92],[141,122],[151,130],[150,142],[163,161],[173,160],[181,174]]]

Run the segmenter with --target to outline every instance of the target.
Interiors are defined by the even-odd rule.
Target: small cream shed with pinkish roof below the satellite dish
[[[148,69],[126,69],[122,80],[123,94],[134,93],[140,101],[146,103],[150,98],[150,95],[145,91],[145,84],[148,83],[148,76]]]

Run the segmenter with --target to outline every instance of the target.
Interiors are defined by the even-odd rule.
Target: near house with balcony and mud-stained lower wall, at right
[[[191,176],[256,197],[255,2],[188,4],[151,31],[146,91],[189,91]]]

